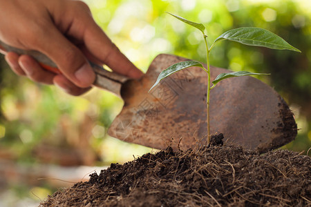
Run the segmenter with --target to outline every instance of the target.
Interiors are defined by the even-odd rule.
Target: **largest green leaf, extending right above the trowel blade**
[[[277,50],[294,50],[296,52],[301,52],[278,35],[262,28],[237,28],[229,30],[221,34],[214,43],[223,39],[237,41],[248,46],[263,46]]]

